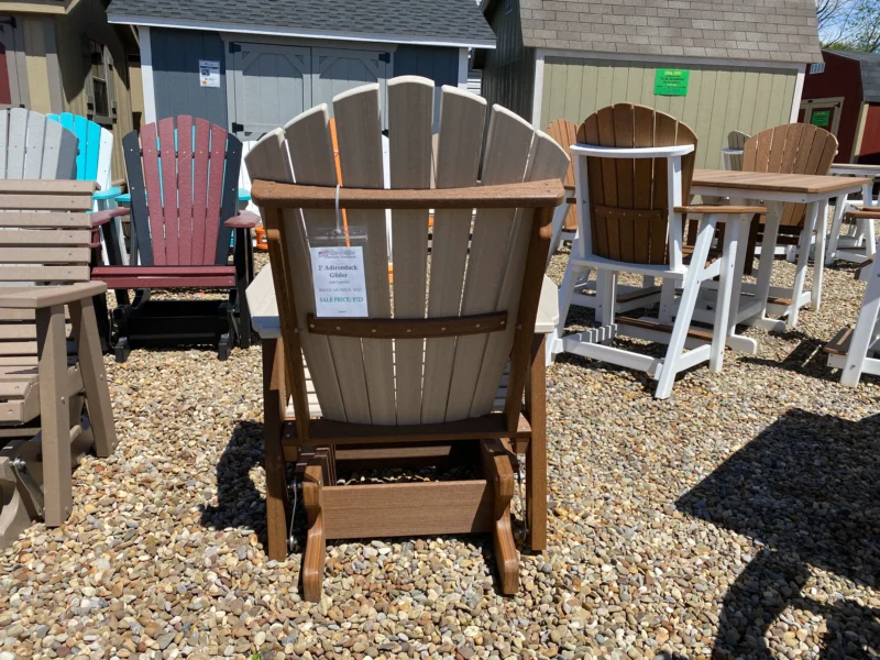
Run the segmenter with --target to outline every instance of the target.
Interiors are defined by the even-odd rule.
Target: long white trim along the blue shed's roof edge
[[[457,48],[494,48],[494,40],[458,40],[442,36],[410,36],[405,34],[365,34],[333,30],[304,30],[299,28],[278,28],[275,25],[245,25],[238,23],[213,23],[189,19],[156,19],[150,16],[127,16],[114,13],[107,15],[109,23],[139,25],[147,28],[176,28],[178,30],[205,30],[209,32],[239,32],[242,34],[268,34],[276,36],[302,36],[309,38],[332,38],[354,42],[380,42],[393,44],[414,44],[419,46],[450,46]]]

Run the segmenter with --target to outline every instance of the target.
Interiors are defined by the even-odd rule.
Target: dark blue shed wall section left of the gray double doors
[[[227,58],[220,34],[154,28],[150,44],[156,119],[191,114],[228,129]],[[199,86],[199,59],[220,62],[220,87]]]

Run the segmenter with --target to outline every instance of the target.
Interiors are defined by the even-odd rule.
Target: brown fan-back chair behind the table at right
[[[837,153],[837,138],[812,124],[791,123],[767,129],[749,138],[743,147],[744,172],[769,172],[779,174],[828,174]],[[806,205],[785,205],[779,223],[778,235],[772,245],[763,245],[766,217],[754,222],[749,234],[749,252],[746,273],[751,272],[755,248],[776,250],[776,245],[798,246],[809,250],[811,237],[801,237]],[[804,244],[804,241],[806,243]],[[784,300],[779,300],[785,304]]]

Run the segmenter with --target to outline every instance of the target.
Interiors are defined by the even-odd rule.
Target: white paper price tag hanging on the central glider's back
[[[309,248],[315,316],[366,317],[366,277],[362,246]]]

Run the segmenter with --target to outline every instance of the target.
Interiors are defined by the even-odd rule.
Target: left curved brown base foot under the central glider
[[[327,559],[327,539],[323,534],[323,506],[321,491],[327,473],[328,451],[319,449],[306,465],[302,479],[302,504],[308,514],[309,528],[306,551],[302,553],[302,595],[317,603],[323,593],[323,566]]]

